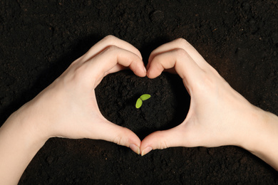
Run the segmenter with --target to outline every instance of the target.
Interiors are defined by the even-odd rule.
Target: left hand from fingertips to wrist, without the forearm
[[[130,129],[115,125],[101,115],[94,90],[105,75],[126,67],[135,75],[146,75],[140,52],[129,43],[114,36],[96,43],[29,102],[33,115],[43,127],[38,131],[43,130],[40,135],[46,139],[103,139],[130,147],[139,154],[140,139]]]

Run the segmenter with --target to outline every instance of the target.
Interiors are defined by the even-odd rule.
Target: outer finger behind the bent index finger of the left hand
[[[105,48],[108,48],[109,46],[117,46],[118,48],[123,48],[127,51],[130,51],[132,53],[135,53],[141,60],[142,56],[140,51],[138,51],[137,48],[135,48],[130,43],[121,40],[120,38],[116,38],[115,36],[105,36],[101,41],[96,43],[84,56],[83,60],[88,60],[90,58],[93,58],[98,53],[101,53]]]

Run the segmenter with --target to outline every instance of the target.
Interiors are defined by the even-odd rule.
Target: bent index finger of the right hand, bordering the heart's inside
[[[149,66],[148,78],[156,78],[163,70],[175,68],[185,85],[192,85],[192,83],[202,80],[202,75],[204,74],[204,71],[195,63],[195,60],[181,48],[160,53],[153,58]]]

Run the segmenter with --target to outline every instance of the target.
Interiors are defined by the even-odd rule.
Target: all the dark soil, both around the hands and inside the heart
[[[160,44],[185,38],[247,100],[278,115],[277,10],[270,0],[2,0],[1,124],[108,34],[132,43],[145,61]],[[108,75],[96,92],[103,115],[141,138],[178,125],[190,102],[180,80],[167,74]],[[142,93],[153,96],[135,110]],[[110,142],[54,138],[19,184],[278,184],[278,173],[239,147],[177,147],[140,157]]]

